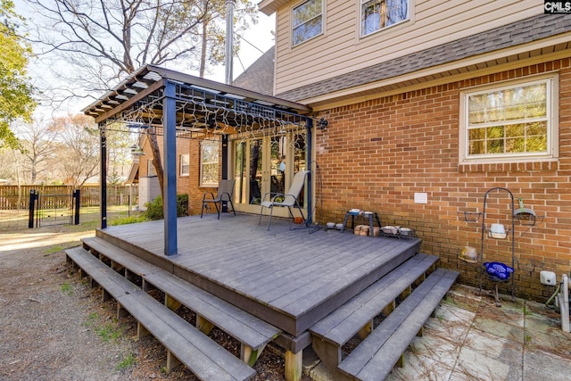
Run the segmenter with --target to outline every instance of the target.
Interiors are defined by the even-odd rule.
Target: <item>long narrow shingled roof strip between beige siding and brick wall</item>
[[[331,79],[296,87],[276,96],[296,102],[307,102],[312,97],[359,87],[383,79],[391,79],[414,71],[459,61],[478,54],[520,46],[546,37],[571,31],[571,17],[567,14],[539,14],[499,28],[486,30],[426,50],[355,70]],[[568,41],[568,38],[567,38]],[[569,42],[562,49],[571,47]],[[334,96],[332,95],[332,98]],[[310,105],[314,105],[308,103]]]

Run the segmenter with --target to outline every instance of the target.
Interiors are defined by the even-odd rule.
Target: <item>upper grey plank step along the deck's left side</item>
[[[86,238],[84,245],[137,273],[143,278],[144,289],[151,288],[150,286],[156,287],[167,295],[167,298],[185,305],[189,310],[196,312],[200,319],[206,319],[211,324],[201,324],[204,333],[208,333],[208,328],[205,327],[213,325],[235,337],[243,344],[242,358],[249,365],[253,365],[266,344],[281,333],[279,328],[264,320],[102,238]]]

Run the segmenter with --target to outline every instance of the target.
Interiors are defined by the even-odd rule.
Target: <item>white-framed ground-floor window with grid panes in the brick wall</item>
[[[556,154],[555,78],[462,94],[461,161],[513,161]]]

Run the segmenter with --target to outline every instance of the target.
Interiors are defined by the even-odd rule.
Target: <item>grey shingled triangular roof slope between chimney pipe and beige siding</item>
[[[273,95],[275,54],[276,47],[270,47],[266,53],[261,54],[260,58],[232,81],[232,86],[247,88],[263,95]]]

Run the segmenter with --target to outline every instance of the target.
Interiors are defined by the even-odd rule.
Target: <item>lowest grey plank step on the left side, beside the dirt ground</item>
[[[256,373],[185,319],[170,311],[151,295],[77,247],[66,255],[161,342],[176,359],[197,377],[207,380],[248,380]]]

